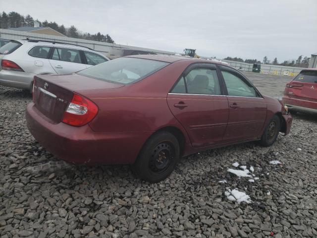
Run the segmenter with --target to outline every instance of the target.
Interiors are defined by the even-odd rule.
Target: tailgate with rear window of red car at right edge
[[[317,102],[317,70],[303,70],[286,86],[290,98]]]

